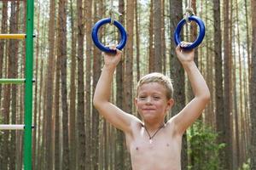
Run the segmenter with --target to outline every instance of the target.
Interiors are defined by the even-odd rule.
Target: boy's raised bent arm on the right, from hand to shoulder
[[[186,129],[201,115],[210,100],[210,91],[207,82],[201,75],[194,62],[194,50],[184,51],[180,46],[176,48],[177,57],[187,72],[195,98],[186,105],[177,116],[172,118],[177,133],[184,133]]]

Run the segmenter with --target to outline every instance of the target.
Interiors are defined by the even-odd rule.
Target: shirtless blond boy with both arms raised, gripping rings
[[[96,86],[93,103],[104,118],[125,133],[133,170],[180,170],[182,136],[201,115],[210,92],[194,62],[194,50],[183,50],[188,43],[177,46],[179,61],[187,72],[195,98],[168,122],[165,116],[172,109],[172,82],[160,73],[143,77],[137,86],[135,105],[143,121],[125,113],[109,102],[113,72],[121,58],[104,54],[105,65]],[[115,48],[113,48],[115,49]]]

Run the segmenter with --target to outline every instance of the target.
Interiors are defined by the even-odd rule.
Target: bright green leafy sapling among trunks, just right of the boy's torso
[[[225,144],[217,143],[218,133],[202,122],[195,122],[188,133],[189,140],[189,169],[217,170],[220,168],[219,151]]]

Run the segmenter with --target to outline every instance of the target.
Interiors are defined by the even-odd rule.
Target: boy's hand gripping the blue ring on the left
[[[122,52],[116,47],[110,47],[116,51],[116,53],[103,53],[105,65],[111,68],[115,68],[119,64]]]

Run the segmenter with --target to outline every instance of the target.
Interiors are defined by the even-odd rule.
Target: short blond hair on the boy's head
[[[172,80],[169,77],[166,77],[165,75],[159,73],[159,72],[153,72],[149,73],[148,75],[145,75],[142,77],[139,82],[137,82],[137,91],[138,88],[143,86],[143,84],[147,84],[150,82],[157,82],[163,85],[166,88],[166,98],[172,99],[173,96],[173,87],[172,87]]]

